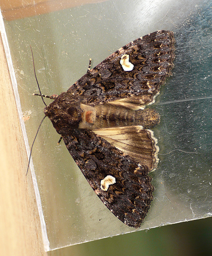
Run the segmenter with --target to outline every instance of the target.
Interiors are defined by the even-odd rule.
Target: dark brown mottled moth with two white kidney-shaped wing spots
[[[160,115],[145,107],[172,75],[174,43],[166,30],[140,37],[88,69],[67,92],[50,96],[54,101],[44,108],[96,195],[134,228],[150,209],[148,174],[158,164],[150,129]]]

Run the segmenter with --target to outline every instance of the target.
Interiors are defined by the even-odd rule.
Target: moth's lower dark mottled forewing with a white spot
[[[90,130],[72,130],[63,140],[108,209],[126,225],[140,227],[153,200],[148,166],[126,156]]]

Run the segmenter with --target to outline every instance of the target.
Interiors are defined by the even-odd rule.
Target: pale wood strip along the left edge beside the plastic
[[[45,255],[40,219],[0,37],[0,255]]]

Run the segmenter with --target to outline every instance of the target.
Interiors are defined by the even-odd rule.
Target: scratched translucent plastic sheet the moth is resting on
[[[186,10],[186,12],[185,12]],[[211,1],[106,1],[5,22],[29,144],[44,116],[33,74],[30,45],[43,94],[60,94],[128,42],[159,29],[176,38],[173,76],[155,104],[160,147],[151,210],[140,229],[211,216],[212,186]],[[50,100],[46,99],[49,104]],[[60,136],[46,119],[32,159],[50,250],[133,232],[94,194]]]

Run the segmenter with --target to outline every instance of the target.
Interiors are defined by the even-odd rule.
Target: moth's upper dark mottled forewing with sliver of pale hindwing
[[[154,102],[161,84],[172,74],[174,42],[173,32],[165,30],[138,38],[103,60],[67,92],[84,96],[92,106],[116,101],[129,108],[143,108]],[[133,64],[131,71],[120,64],[124,55],[129,58],[126,65]]]

